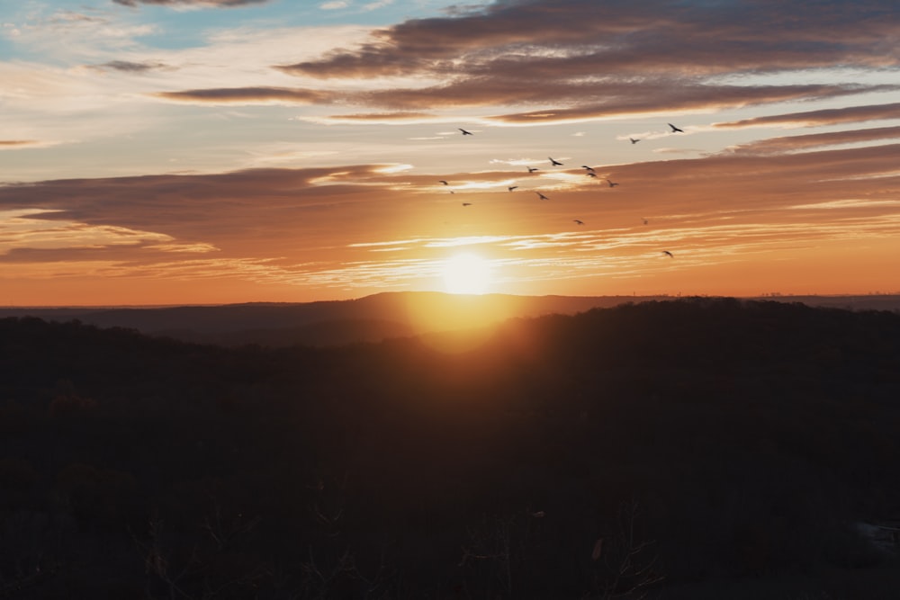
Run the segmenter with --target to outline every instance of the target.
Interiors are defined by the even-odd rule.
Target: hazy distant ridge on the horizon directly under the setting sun
[[[509,318],[573,315],[666,296],[460,296],[430,291],[385,292],[356,300],[251,302],[218,306],[134,308],[7,308],[2,317],[77,319],[97,327],[216,344],[331,346],[487,327]],[[750,299],[752,300],[752,299]],[[900,296],[777,296],[764,300],[842,309],[900,310]]]

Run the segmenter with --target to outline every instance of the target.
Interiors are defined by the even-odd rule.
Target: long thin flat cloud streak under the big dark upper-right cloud
[[[535,81],[466,79],[425,88],[333,92],[309,88],[244,87],[160,92],[167,100],[199,103],[318,103],[377,106],[392,112],[351,113],[321,121],[376,121],[419,118],[440,109],[520,104],[559,104],[527,112],[482,117],[504,123],[579,121],[653,112],[708,111],[765,103],[836,98],[900,89],[900,85],[685,85],[681,82],[617,81],[562,83],[554,87]]]

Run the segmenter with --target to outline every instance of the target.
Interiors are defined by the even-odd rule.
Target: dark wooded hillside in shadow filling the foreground
[[[775,301],[518,319],[452,353],[5,318],[0,598],[672,598],[894,569],[856,524],[900,518],[898,399],[900,316]]]

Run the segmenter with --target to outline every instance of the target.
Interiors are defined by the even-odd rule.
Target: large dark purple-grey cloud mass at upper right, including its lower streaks
[[[803,13],[803,26],[796,15]],[[397,111],[536,106],[505,122],[707,110],[834,97],[891,86],[776,82],[835,65],[893,68],[900,28],[884,2],[636,5],[509,0],[411,19],[320,58],[275,65],[320,80],[410,77],[442,82],[380,89],[351,101]],[[761,80],[769,77],[767,83]],[[893,89],[896,89],[894,86]]]

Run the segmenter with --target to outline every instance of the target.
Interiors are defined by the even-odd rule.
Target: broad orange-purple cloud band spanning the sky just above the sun
[[[57,270],[102,264],[117,277],[369,290],[422,284],[446,253],[463,248],[518,282],[686,273],[895,238],[898,152],[891,145],[605,167],[623,183],[615,189],[573,168],[562,174],[572,184],[548,202],[530,193],[538,182],[507,192],[500,184],[510,171],[470,174],[496,185],[454,195],[436,174],[379,165],[8,185],[0,187],[0,260]],[[461,207],[461,197],[473,205]],[[662,261],[663,249],[678,262]]]

